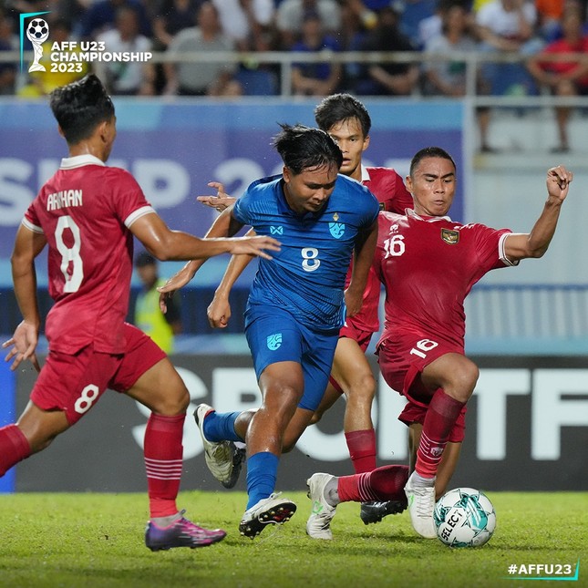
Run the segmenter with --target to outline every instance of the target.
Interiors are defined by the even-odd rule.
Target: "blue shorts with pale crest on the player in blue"
[[[267,366],[280,361],[295,361],[302,366],[304,394],[298,406],[314,411],[325,394],[339,330],[316,333],[284,310],[250,306],[245,314],[245,335],[257,379]]]

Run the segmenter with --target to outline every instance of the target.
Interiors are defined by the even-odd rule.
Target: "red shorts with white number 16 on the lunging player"
[[[462,346],[433,341],[425,335],[415,333],[380,342],[376,353],[377,363],[387,385],[407,397],[407,405],[398,416],[398,420],[406,425],[410,423],[422,425],[432,395],[430,390],[423,386],[420,374],[438,357],[448,353],[459,353],[463,356],[464,349]],[[452,443],[463,441],[465,418],[466,407],[464,406],[449,435],[449,441]]]

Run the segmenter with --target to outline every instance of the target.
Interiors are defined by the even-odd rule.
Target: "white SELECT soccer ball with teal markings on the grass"
[[[435,505],[437,536],[449,547],[480,547],[496,528],[496,512],[486,494],[473,488],[456,488]]]

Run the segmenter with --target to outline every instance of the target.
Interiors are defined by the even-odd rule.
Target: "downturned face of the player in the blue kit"
[[[321,166],[302,170],[294,175],[284,167],[284,195],[294,212],[320,211],[335,190],[335,166]]]

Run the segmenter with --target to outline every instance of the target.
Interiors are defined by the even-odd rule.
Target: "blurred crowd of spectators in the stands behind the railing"
[[[46,43],[102,41],[110,51],[159,51],[165,63],[101,63],[113,94],[239,96],[280,92],[279,64],[196,62],[186,53],[295,51],[294,95],[336,91],[358,96],[460,97],[466,64],[428,56],[517,54],[517,63],[484,62],[477,92],[487,95],[588,95],[586,0],[7,0],[0,8],[0,51],[19,47],[19,14],[48,11]],[[420,52],[422,62],[340,64],[338,51]],[[585,54],[557,61],[553,55]],[[173,57],[176,58],[174,61]],[[0,94],[38,96],[84,75],[35,72],[17,83],[15,64],[0,62]],[[570,108],[556,109],[559,150],[569,149]],[[479,109],[482,150],[489,109]]]

